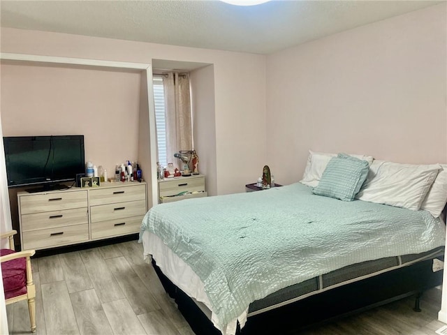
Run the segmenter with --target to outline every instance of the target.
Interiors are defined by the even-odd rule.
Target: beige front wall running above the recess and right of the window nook
[[[214,110],[207,113],[214,113],[216,120],[215,124],[210,124],[210,127],[216,127],[216,160],[212,163],[216,170],[208,172],[216,180],[215,194],[244,191],[244,184],[256,178],[258,170],[262,169],[265,132],[259,129],[265,128],[264,56],[20,29],[2,29],[1,52],[145,64],[151,64],[152,59],[213,64],[214,96],[208,98],[209,105],[214,104]],[[82,78],[78,80],[84,82]],[[6,109],[8,105],[2,103],[2,116]],[[212,120],[213,117],[207,119]],[[3,133],[8,133],[8,123],[3,122],[2,126]],[[36,131],[39,129],[36,126]],[[135,126],[135,133],[137,130]],[[102,132],[107,131],[107,128],[102,129]],[[103,134],[98,132],[86,141],[95,143],[102,138]],[[110,149],[113,143],[108,145]],[[205,163],[207,153],[198,154],[201,164]],[[237,177],[234,172],[236,168]]]

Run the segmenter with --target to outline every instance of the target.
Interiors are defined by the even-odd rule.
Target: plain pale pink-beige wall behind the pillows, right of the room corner
[[[447,162],[446,3],[267,57],[267,143],[279,183],[307,150]]]

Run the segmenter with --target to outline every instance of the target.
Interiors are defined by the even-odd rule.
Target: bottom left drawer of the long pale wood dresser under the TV
[[[24,249],[43,249],[52,246],[64,246],[89,240],[89,225],[70,225],[68,227],[50,228],[23,232]]]

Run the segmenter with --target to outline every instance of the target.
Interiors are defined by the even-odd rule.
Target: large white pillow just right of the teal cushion
[[[441,165],[413,165],[374,161],[357,199],[417,211]]]

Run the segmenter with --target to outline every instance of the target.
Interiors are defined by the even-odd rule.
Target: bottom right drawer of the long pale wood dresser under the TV
[[[92,223],[91,238],[101,239],[140,232],[143,217],[144,215],[140,215],[133,216],[132,218],[119,218],[117,220]]]

